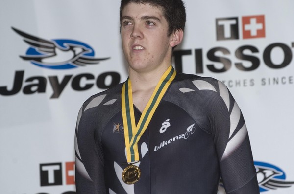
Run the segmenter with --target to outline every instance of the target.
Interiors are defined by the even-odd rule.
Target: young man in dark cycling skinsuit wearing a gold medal
[[[129,78],[90,97],[76,125],[78,194],[258,194],[242,113],[212,78],[177,74],[181,0],[122,0]]]

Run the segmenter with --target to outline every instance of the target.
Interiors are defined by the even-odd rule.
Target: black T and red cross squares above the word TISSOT
[[[217,40],[238,40],[239,20],[238,17],[216,19]],[[266,37],[265,16],[242,17],[243,39]]]

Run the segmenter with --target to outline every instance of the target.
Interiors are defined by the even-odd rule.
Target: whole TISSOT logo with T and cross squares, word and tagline
[[[213,73],[224,73],[232,68],[248,72],[254,71],[262,65],[274,70],[286,68],[291,63],[293,64],[294,42],[292,40],[288,43],[273,42],[268,43],[268,45],[245,43],[245,39],[266,37],[264,15],[243,16],[240,18],[216,19],[218,45],[209,49],[175,50],[173,52],[175,70],[179,73],[183,71],[183,57],[187,57],[187,55],[191,55],[191,58],[194,59],[196,74],[205,73],[205,70]],[[240,25],[240,21],[242,25]],[[239,32],[239,28],[242,29],[242,35]],[[244,40],[240,42],[236,41],[234,44],[220,42],[221,40],[237,40],[239,37],[242,37]],[[262,40],[262,42],[266,41]],[[245,44],[239,45],[239,43]],[[254,43],[258,42],[256,41]],[[191,63],[189,65],[191,66]],[[260,80],[245,78],[243,80],[221,81],[229,87],[284,85],[293,84],[293,76],[262,77]]]

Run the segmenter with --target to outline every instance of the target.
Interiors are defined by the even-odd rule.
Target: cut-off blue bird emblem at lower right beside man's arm
[[[280,168],[264,162],[254,162],[260,192],[288,188],[294,181],[286,181],[286,174]]]

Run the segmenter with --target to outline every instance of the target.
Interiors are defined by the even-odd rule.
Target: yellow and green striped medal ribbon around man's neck
[[[138,125],[135,123],[135,114],[133,107],[132,85],[131,80],[128,78],[123,84],[122,89],[122,112],[123,112],[123,128],[124,140],[127,152],[127,162],[134,162],[139,160],[138,141],[142,134],[147,129],[147,126],[158,107],[165,92],[175,78],[176,71],[172,65],[165,71],[160,78],[157,86],[155,87],[147,106],[145,107]]]

